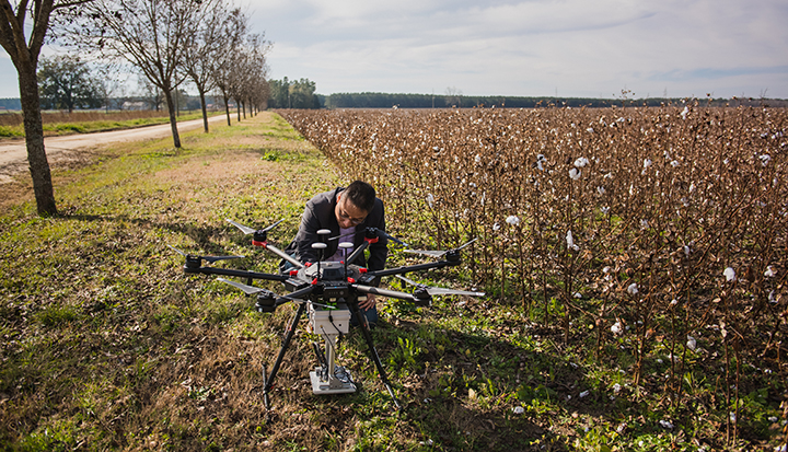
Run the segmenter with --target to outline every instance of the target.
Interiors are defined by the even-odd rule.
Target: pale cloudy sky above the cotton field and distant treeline
[[[785,0],[235,0],[317,93],[788,98]],[[0,97],[16,97],[0,53]]]

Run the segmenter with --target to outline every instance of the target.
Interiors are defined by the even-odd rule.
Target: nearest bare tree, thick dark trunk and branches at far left
[[[11,57],[19,77],[27,162],[38,215],[57,213],[49,162],[44,149],[44,125],[36,78],[38,56],[53,14],[89,1],[91,0],[35,0],[31,3],[28,0],[19,0],[12,5],[9,0],[0,0],[3,15],[0,20],[0,45]],[[33,27],[25,31],[30,20],[33,21]]]

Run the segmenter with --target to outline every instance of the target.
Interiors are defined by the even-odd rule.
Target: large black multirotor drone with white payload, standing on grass
[[[401,240],[389,235],[385,231],[376,228],[366,228],[363,231],[364,240],[356,250],[352,242],[339,242],[338,247],[343,250],[347,258],[340,262],[323,260],[322,251],[327,247],[328,241],[343,240],[347,236],[329,237],[331,230],[323,229],[317,231],[318,242],[313,243],[313,250],[318,251],[321,257],[314,263],[301,263],[288,253],[277,248],[268,242],[268,232],[277,224],[283,221],[279,220],[264,229],[254,229],[241,224],[231,219],[227,219],[229,223],[241,230],[245,235],[252,235],[252,244],[262,247],[277,257],[288,263],[292,268],[285,274],[266,274],[257,271],[247,271],[230,268],[211,267],[204,265],[205,263],[213,264],[219,260],[242,258],[244,256],[199,256],[185,253],[171,245],[175,252],[183,255],[186,259],[184,271],[186,274],[219,275],[219,281],[231,285],[248,295],[256,297],[255,309],[260,313],[273,313],[276,309],[286,303],[297,303],[298,309],[294,316],[288,323],[282,346],[274,362],[270,372],[266,364],[263,364],[263,397],[267,409],[270,409],[269,394],[274,389],[274,381],[285,358],[293,335],[298,327],[299,321],[306,312],[309,317],[309,326],[313,333],[320,335],[325,347],[321,348],[317,343],[312,343],[313,350],[317,357],[318,366],[314,371],[310,372],[312,391],[314,394],[347,394],[356,392],[356,383],[352,381],[350,372],[336,363],[336,344],[337,339],[349,333],[350,315],[358,320],[361,334],[367,343],[370,358],[374,362],[378,373],[392,397],[394,405],[401,409],[399,402],[394,395],[389,376],[381,363],[378,350],[375,349],[370,333],[370,326],[367,317],[361,313],[359,302],[367,300],[367,295],[375,294],[385,298],[399,299],[413,302],[417,306],[431,305],[433,297],[440,295],[470,295],[484,297],[484,292],[453,290],[439,287],[430,287],[418,283],[404,275],[429,270],[433,268],[452,267],[462,264],[460,252],[471,245],[476,239],[461,245],[460,247],[448,251],[420,251],[410,250],[409,245]],[[355,234],[350,234],[355,235]],[[408,265],[396,268],[369,270],[364,267],[354,264],[370,244],[375,243],[381,236],[392,240],[393,242],[405,247],[404,252],[426,255],[438,260]],[[352,237],[351,237],[352,239]],[[405,283],[413,285],[415,289],[408,293],[405,291],[389,290],[379,288],[380,279],[386,276],[396,276]],[[224,277],[241,278],[245,282],[237,282]],[[253,286],[254,280],[270,280],[282,282],[287,294],[277,294],[274,291]]]

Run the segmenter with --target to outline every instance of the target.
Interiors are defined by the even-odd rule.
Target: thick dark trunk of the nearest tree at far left
[[[55,190],[51,183],[49,162],[44,149],[44,125],[40,117],[38,80],[36,79],[35,68],[27,66],[20,65],[18,67],[27,162],[33,178],[33,193],[38,215],[54,216],[57,215],[57,206],[55,205]]]

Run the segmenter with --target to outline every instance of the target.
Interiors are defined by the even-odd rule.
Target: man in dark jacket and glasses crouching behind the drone
[[[296,239],[285,248],[285,252],[302,263],[315,263],[321,258],[323,260],[344,260],[352,250],[363,243],[367,228],[385,231],[383,201],[375,197],[375,190],[370,184],[355,181],[347,188],[339,187],[321,193],[306,202]],[[340,237],[327,241],[327,247],[322,250],[323,253],[312,248],[313,243],[321,242],[321,237],[317,236],[317,231],[321,229],[331,230],[329,237]],[[352,242],[354,248],[339,248],[340,242]],[[371,243],[368,250],[369,260],[364,256],[359,256],[354,264],[370,270],[383,269],[389,254],[386,237],[379,237],[378,242]],[[280,268],[286,269],[285,267]],[[368,294],[367,300],[359,300],[359,308],[370,326],[378,323],[378,309],[373,294]],[[358,322],[356,318],[351,318],[351,323],[357,324]]]

